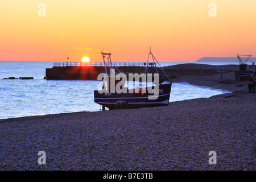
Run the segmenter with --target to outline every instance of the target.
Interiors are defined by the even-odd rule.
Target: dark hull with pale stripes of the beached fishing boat
[[[141,107],[167,106],[170,100],[172,83],[159,85],[158,96],[146,93],[99,93],[94,90],[94,102],[109,109],[136,109]],[[148,89],[148,88],[147,88]],[[153,88],[150,88],[154,90]],[[149,99],[151,98],[151,99]]]

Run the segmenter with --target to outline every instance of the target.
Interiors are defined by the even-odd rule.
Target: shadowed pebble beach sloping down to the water
[[[256,94],[233,75],[173,78],[232,93],[168,106],[0,119],[0,170],[254,171]]]

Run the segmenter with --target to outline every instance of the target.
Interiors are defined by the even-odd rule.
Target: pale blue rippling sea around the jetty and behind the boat
[[[183,63],[160,62],[160,65]],[[97,90],[101,81],[44,79],[46,68],[52,67],[51,61],[0,61],[0,119],[102,110],[93,98],[93,90]],[[9,77],[18,79],[3,79]],[[34,79],[22,80],[19,77],[34,77]],[[170,102],[208,98],[222,93],[230,92],[191,85],[187,82],[173,83]]]

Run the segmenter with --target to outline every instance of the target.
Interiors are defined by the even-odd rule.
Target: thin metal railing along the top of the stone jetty
[[[112,62],[115,67],[146,67],[146,63],[136,63],[136,62]],[[108,64],[108,62],[106,63]],[[154,64],[148,63],[148,66],[152,66]],[[102,62],[60,62],[53,63],[53,67],[104,67],[104,63]]]

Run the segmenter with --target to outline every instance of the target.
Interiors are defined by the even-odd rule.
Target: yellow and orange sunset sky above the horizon
[[[150,46],[158,61],[256,56],[255,0],[1,0],[0,23],[6,61],[146,61]]]

